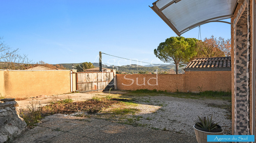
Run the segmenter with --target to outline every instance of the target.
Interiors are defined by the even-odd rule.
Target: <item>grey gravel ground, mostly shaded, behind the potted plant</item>
[[[141,110],[136,116],[142,116],[136,122],[146,124],[146,127],[195,136],[193,125],[197,115],[201,117],[213,114],[213,121],[220,122],[219,125],[224,129],[224,134],[231,134],[231,119],[226,117],[227,110],[208,106],[208,104],[230,104],[231,106],[228,101],[169,96],[146,96],[134,99],[134,102],[139,104],[134,108]]]

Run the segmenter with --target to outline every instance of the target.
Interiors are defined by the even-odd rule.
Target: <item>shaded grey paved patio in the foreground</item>
[[[15,143],[197,143],[186,134],[112,123],[94,118],[63,114],[47,116],[35,128],[28,129]]]

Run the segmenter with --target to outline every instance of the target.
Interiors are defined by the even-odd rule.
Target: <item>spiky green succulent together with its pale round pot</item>
[[[219,122],[214,123],[212,121],[212,116],[210,120],[209,116],[207,118],[198,116],[198,119],[198,122],[193,126],[198,143],[210,143],[207,142],[207,135],[223,135],[224,130],[218,125]]]

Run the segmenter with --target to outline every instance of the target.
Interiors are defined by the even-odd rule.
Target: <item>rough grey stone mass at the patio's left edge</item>
[[[1,99],[0,102],[0,143],[19,135],[27,126],[16,112],[17,102],[13,99]]]

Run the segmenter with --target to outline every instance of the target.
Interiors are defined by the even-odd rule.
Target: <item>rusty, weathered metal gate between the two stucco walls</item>
[[[113,72],[77,73],[77,90],[79,92],[97,91],[114,88]]]

